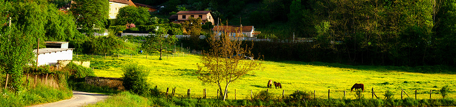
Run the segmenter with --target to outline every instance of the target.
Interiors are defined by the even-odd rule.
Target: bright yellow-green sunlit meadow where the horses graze
[[[176,87],[177,95],[186,95],[191,89],[192,97],[202,97],[203,89],[207,89],[208,97],[216,97],[217,87],[215,84],[202,83],[193,72],[197,70],[199,56],[185,55],[175,57],[136,55],[136,56],[91,56],[77,55],[75,60],[89,60],[95,75],[104,77],[121,77],[122,66],[136,63],[142,65],[149,72],[147,78],[151,86],[157,86],[159,90],[166,92],[166,88]],[[291,94],[293,91],[314,92],[318,98],[327,98],[328,90],[330,98],[354,99],[355,92],[350,88],[355,83],[364,84],[365,98],[371,98],[372,89],[376,96],[384,98],[386,91],[393,92],[393,97],[401,98],[401,89],[407,92],[409,97],[415,97],[417,90],[418,99],[428,99],[432,90],[432,98],[441,98],[439,90],[448,85],[450,93],[448,97],[455,98],[456,74],[454,68],[447,66],[419,66],[419,67],[396,67],[396,66],[352,66],[338,63],[323,62],[300,62],[300,61],[259,61],[262,69],[253,71],[233,82],[228,87],[228,99],[234,99],[236,90],[237,99],[250,98],[250,92],[264,91],[268,80],[280,82],[282,89],[269,88],[277,97],[282,92]],[[436,73],[437,72],[437,73]],[[404,93],[404,97],[407,95]]]

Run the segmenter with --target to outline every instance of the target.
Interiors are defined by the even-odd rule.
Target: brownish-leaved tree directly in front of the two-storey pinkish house
[[[200,17],[189,17],[187,21],[182,23],[182,27],[187,31],[187,34],[199,37],[199,34],[201,34],[201,23],[203,22]]]

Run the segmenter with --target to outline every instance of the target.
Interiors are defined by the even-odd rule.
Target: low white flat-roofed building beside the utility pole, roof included
[[[51,46],[57,46],[61,48],[40,48],[34,49],[33,53],[36,55],[38,51],[37,63],[38,65],[55,65],[59,60],[73,60],[73,49],[68,48],[68,42],[45,42],[51,44]],[[58,46],[61,45],[61,46]],[[65,46],[66,45],[66,46]],[[48,46],[49,47],[49,46]]]

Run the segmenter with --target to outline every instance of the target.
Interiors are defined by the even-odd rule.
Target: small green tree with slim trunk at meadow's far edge
[[[163,27],[160,27],[155,34],[150,34],[147,36],[146,41],[143,43],[142,47],[147,51],[159,51],[160,58],[162,60],[162,53],[166,46],[170,46],[176,43],[177,38],[171,35],[166,35],[167,30]]]

